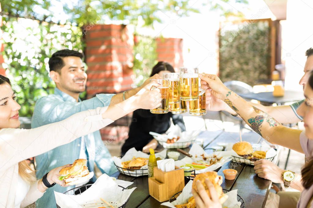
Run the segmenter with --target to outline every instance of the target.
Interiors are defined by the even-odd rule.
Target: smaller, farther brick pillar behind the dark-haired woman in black
[[[180,38],[157,38],[156,52],[158,61],[167,61],[178,72],[183,66],[182,45]]]

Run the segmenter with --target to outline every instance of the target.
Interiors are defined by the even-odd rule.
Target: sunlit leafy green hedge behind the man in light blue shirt
[[[80,28],[34,23],[10,19],[2,27],[6,74],[22,106],[21,116],[32,116],[36,100],[54,92],[54,82],[48,75],[49,57],[64,48],[82,51],[83,47]]]

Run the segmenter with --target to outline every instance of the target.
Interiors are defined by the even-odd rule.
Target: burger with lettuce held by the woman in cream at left
[[[77,159],[70,167],[64,167],[60,170],[59,180],[65,181],[65,185],[76,185],[88,181],[94,176],[94,172],[89,172],[85,166],[87,160]]]

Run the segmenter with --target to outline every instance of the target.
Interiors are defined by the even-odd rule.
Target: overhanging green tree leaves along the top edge
[[[69,22],[78,26],[101,24],[105,20],[121,20],[124,24],[138,23],[138,18],[144,21],[143,26],[152,27],[153,22],[162,22],[160,12],[175,12],[178,16],[187,16],[190,12],[198,12],[189,8],[188,0],[84,0],[61,1],[63,11],[68,15]],[[2,0],[3,11],[20,17],[34,17],[51,21],[51,0]],[[44,11],[44,12],[43,12]],[[44,13],[44,15],[43,15]]]

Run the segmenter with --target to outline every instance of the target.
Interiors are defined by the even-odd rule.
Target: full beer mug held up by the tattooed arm
[[[180,99],[183,101],[198,100],[199,76],[198,68],[179,67]]]

